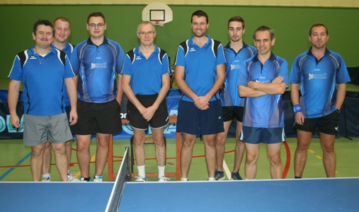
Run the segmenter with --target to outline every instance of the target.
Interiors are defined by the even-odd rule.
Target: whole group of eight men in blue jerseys
[[[268,26],[254,31],[254,46],[243,41],[246,28],[240,16],[229,18],[230,41],[225,46],[206,34],[209,18],[205,11],[195,11],[190,26],[193,35],[178,45],[174,62],[174,79],[183,93],[176,125],[183,135],[181,181],[188,181],[198,135],[205,146],[208,180],[225,179],[225,141],[233,121],[237,142],[230,179],[242,179],[239,167],[244,152],[245,179],[256,178],[261,143],[267,146],[270,176],[282,178],[282,94],[289,86],[297,130],[295,178],[302,177],[316,129],[326,177],[335,177],[334,140],[346,82],[351,79],[341,55],[326,48],[326,26],[315,23],[309,29],[312,46],[295,58],[290,74],[287,61],[271,50],[275,33]],[[134,133],[136,181],[147,182],[144,135],[149,127],[156,146],[158,180],[168,181],[164,128],[169,123],[166,94],[170,65],[167,52],[154,44],[154,24],[139,24],[139,45],[126,54],[117,42],[105,37],[103,13],[91,13],[86,28],[89,38],[74,46],[67,42],[71,33],[67,18],[56,18],[54,23],[37,21],[33,27],[35,45],[16,55],[8,75],[8,108],[16,128],[20,126],[16,105],[23,84],[23,144],[31,146],[33,181],[51,181],[52,149],[61,181],[102,182],[110,135],[122,130],[120,104],[124,94],[129,100],[127,118]],[[91,178],[89,147],[93,134],[97,149]],[[69,170],[72,135],[76,135],[80,179]]]

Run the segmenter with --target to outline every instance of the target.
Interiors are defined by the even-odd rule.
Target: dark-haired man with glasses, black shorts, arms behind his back
[[[92,181],[89,173],[91,134],[96,133],[96,169],[94,182],[102,182],[102,172],[108,157],[110,134],[122,130],[120,103],[123,91],[119,74],[125,53],[121,46],[105,37],[106,20],[103,13],[91,13],[86,28],[90,37],[76,45],[71,64],[79,75],[77,112],[80,122],[71,130],[77,140],[77,160],[80,181]],[[116,72],[118,82],[116,82]]]

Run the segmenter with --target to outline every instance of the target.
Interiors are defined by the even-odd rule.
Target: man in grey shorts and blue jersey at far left
[[[70,125],[76,124],[76,86],[69,58],[51,43],[55,33],[52,23],[39,20],[34,24],[35,46],[16,55],[8,78],[8,108],[11,125],[20,127],[16,114],[18,94],[23,82],[23,144],[31,146],[30,167],[35,182],[40,181],[45,143],[52,143],[61,181],[67,182],[66,145],[72,139]],[[64,106],[66,84],[71,111],[67,119]]]

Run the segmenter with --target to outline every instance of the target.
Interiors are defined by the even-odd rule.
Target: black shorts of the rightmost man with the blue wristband
[[[329,115],[319,118],[304,118],[304,124],[294,124],[294,128],[305,132],[314,132],[318,128],[319,132],[328,135],[336,135],[338,133],[339,113],[334,111]]]

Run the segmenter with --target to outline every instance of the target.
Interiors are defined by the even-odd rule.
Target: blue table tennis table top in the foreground
[[[105,211],[113,182],[0,182],[0,211]],[[359,178],[125,182],[120,211],[359,211]]]

